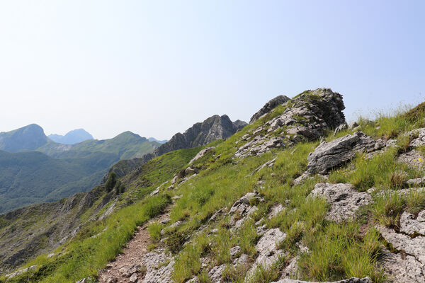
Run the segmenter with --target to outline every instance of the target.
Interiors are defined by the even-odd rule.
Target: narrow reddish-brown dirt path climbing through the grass
[[[135,236],[123,248],[123,253],[120,253],[115,260],[109,262],[105,270],[99,272],[99,282],[129,283],[137,282],[137,279],[141,279],[142,257],[149,252],[147,247],[152,243],[147,226],[154,221],[162,221],[168,218],[170,210],[171,207],[167,207],[165,212],[151,219],[145,225],[137,227]]]

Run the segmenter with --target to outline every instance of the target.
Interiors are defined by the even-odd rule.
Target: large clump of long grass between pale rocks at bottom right
[[[307,239],[310,253],[302,253],[299,266],[303,277],[317,281],[338,280],[346,277],[370,277],[383,282],[377,257],[378,232],[368,231],[361,239],[358,224],[329,223]]]

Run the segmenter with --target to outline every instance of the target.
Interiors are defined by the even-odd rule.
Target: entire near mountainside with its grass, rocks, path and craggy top
[[[425,282],[424,108],[348,125],[319,88],[259,109],[1,214],[0,282]]]

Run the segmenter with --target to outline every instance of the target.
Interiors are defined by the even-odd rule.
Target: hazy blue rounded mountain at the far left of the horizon
[[[47,144],[42,127],[31,124],[11,132],[0,132],[0,150],[9,152],[30,151]]]

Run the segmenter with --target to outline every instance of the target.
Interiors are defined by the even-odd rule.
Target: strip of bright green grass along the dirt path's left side
[[[98,221],[89,229],[79,232],[76,240],[64,247],[62,255],[50,259],[40,256],[28,263],[38,265],[37,270],[8,282],[26,282],[28,279],[30,282],[74,283],[81,278],[95,276],[120,253],[136,227],[162,212],[169,202],[169,198],[158,196],[120,209],[105,221]],[[91,237],[94,235],[96,237]],[[50,269],[46,270],[49,266]]]

